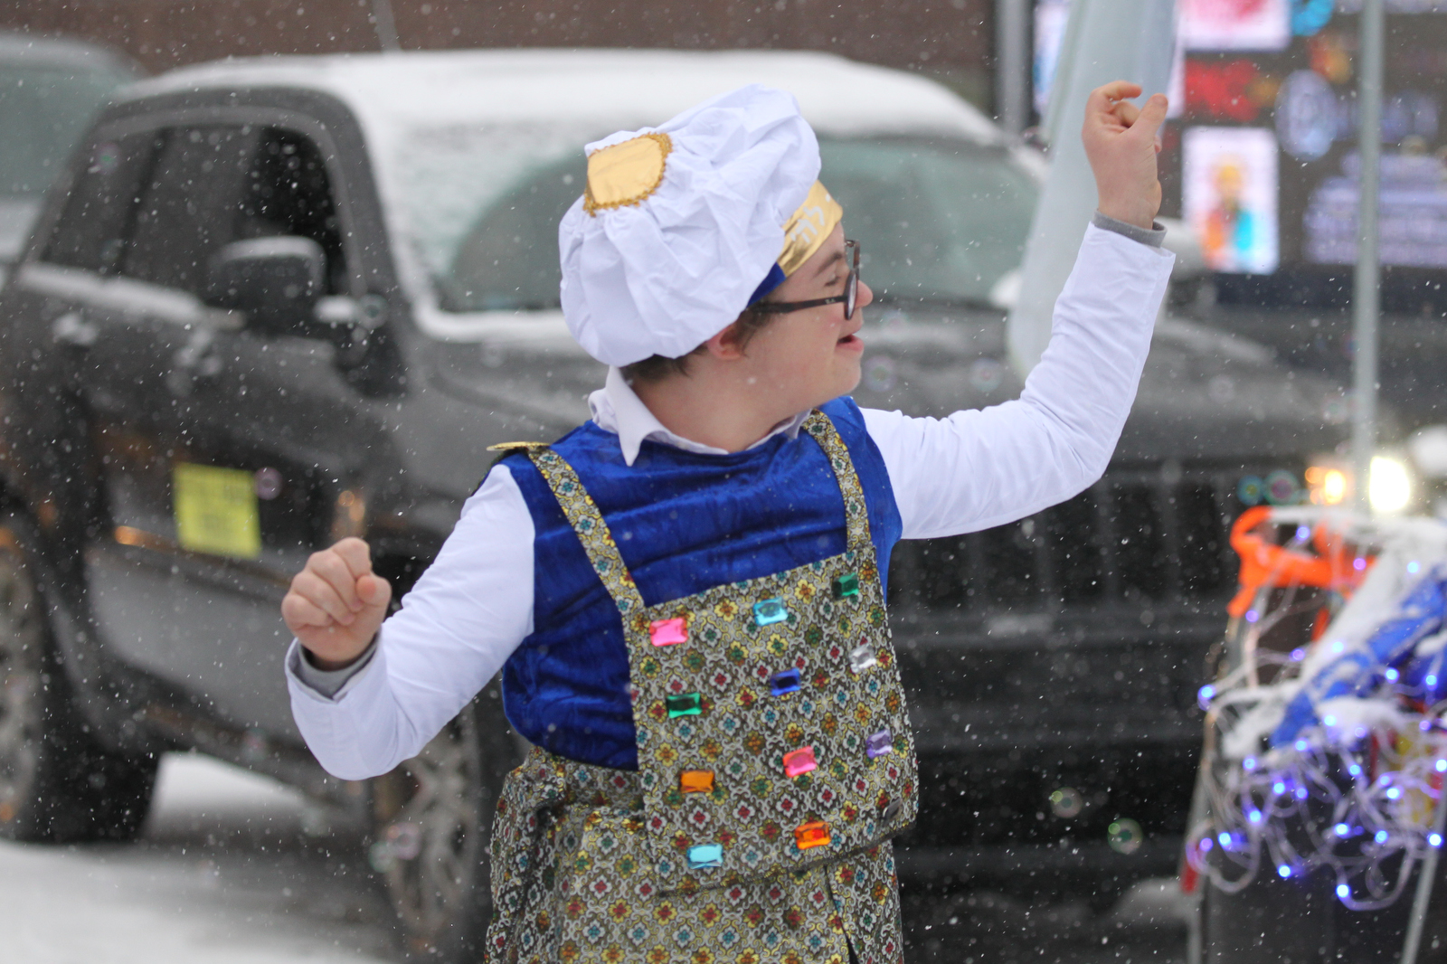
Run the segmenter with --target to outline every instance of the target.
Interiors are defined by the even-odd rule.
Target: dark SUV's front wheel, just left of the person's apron
[[[492,813],[504,779],[521,761],[495,682],[420,754],[372,780],[368,858],[408,954],[438,964],[483,960]]]

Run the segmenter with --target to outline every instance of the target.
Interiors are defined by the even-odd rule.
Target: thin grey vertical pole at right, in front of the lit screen
[[[1376,450],[1378,316],[1382,268],[1378,253],[1378,195],[1382,182],[1382,0],[1363,0],[1360,22],[1362,74],[1357,88],[1357,152],[1362,197],[1357,207],[1357,266],[1351,294],[1356,352],[1351,366],[1351,466],[1356,507],[1370,512],[1372,453]]]

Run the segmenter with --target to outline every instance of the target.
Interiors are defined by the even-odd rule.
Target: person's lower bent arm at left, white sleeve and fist
[[[532,517],[506,466],[467,499],[437,559],[382,622],[373,604],[385,612],[385,585],[366,544],[343,540],[308,562],[282,604],[297,634],[287,653],[292,715],[321,766],[344,780],[417,756],[532,631]]]

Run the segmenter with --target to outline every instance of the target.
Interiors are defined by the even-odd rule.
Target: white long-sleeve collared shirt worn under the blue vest
[[[1003,525],[1077,495],[1106,472],[1175,261],[1127,234],[1087,229],[1055,305],[1049,347],[1020,398],[948,418],[862,410],[903,538]],[[664,428],[616,371],[589,402],[593,421],[618,434],[628,465],[644,440],[722,453]],[[806,415],[767,437],[797,434]],[[328,773],[366,779],[415,756],[532,633],[532,534],[522,494],[499,465],[362,661],[323,673],[292,643],[292,714]]]

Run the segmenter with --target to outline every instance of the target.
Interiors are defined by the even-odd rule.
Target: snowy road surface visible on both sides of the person
[[[139,844],[0,842],[0,963],[395,964],[360,840],[307,824],[297,792],[171,754]],[[1104,918],[959,895],[922,915],[928,929],[913,921],[909,961],[1178,964],[1174,887],[1139,884]]]

